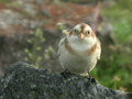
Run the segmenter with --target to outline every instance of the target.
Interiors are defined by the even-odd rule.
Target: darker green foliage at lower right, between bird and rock
[[[109,57],[102,55],[101,61],[99,61],[97,67],[92,72],[92,76],[106,87],[112,89],[125,88],[131,91],[131,57],[125,54],[113,52]]]

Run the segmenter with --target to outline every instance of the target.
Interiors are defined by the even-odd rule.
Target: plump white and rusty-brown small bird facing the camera
[[[58,43],[58,58],[64,70],[88,76],[100,59],[101,43],[87,23],[76,24]]]

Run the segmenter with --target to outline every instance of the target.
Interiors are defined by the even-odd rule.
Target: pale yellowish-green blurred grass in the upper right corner
[[[113,25],[116,42],[118,44],[123,44],[132,40],[131,3],[132,0],[117,0],[116,6],[102,9],[102,14],[105,14]]]

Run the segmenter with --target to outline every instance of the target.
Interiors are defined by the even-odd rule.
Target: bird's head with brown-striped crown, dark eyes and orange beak
[[[96,37],[91,28],[86,23],[75,25],[75,28],[70,31],[69,36],[76,36],[79,40],[91,40]]]

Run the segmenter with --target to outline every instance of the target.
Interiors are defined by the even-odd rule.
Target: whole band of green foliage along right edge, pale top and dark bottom
[[[132,0],[117,0],[116,6],[102,8],[101,13],[111,22],[117,48],[107,54],[102,51],[101,61],[92,72],[99,82],[112,89],[132,91]]]

